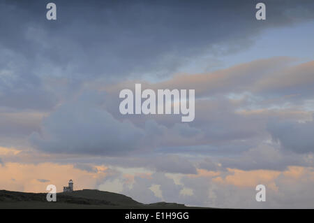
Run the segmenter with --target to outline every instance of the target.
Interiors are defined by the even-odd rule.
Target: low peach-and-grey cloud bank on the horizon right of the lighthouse
[[[213,172],[214,173],[214,172]],[[122,193],[143,203],[168,201],[189,206],[214,208],[311,208],[313,207],[313,168],[290,166],[285,171],[240,171],[175,176],[154,173],[150,178],[134,177],[132,185],[124,182]],[[302,182],[302,183],[299,183]],[[267,201],[257,202],[256,185],[267,188]],[[153,187],[158,187],[159,195]],[[188,189],[189,193],[181,193]],[[306,195],[311,194],[311,195]]]

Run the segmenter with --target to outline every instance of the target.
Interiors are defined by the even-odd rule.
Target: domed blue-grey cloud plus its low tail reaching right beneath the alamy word
[[[193,143],[200,135],[188,124],[165,127],[147,120],[144,126],[137,126],[116,119],[103,108],[102,96],[84,92],[59,106],[43,119],[40,131],[31,135],[31,143],[38,150],[52,153],[126,155],[151,152],[163,145]]]

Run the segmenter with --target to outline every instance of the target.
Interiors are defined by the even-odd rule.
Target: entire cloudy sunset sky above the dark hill
[[[314,208],[313,1],[49,2],[0,1],[0,189]],[[121,115],[136,83],[195,89],[195,120]]]

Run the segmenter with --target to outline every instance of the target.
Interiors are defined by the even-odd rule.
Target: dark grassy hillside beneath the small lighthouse
[[[48,202],[46,195],[0,190],[0,208],[189,208],[177,203],[143,204],[122,194],[96,189],[59,193],[57,202]]]

